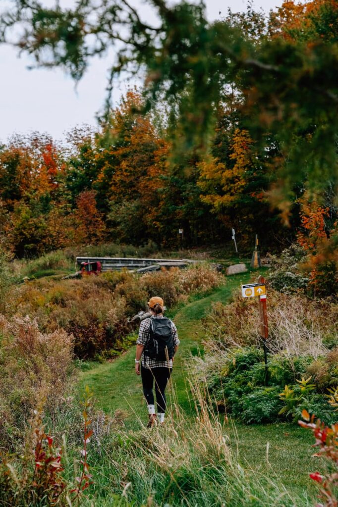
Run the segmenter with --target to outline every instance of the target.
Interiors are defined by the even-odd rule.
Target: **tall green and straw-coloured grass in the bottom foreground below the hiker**
[[[141,429],[115,427],[104,439],[94,476],[103,481],[95,489],[97,505],[310,507],[306,492],[290,492],[241,466],[225,419],[213,411],[197,379],[191,377],[190,388],[194,416],[181,410],[172,389],[163,427],[149,430],[138,420]]]

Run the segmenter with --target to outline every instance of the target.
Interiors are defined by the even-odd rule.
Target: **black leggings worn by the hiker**
[[[148,405],[154,405],[153,383],[155,379],[155,393],[157,412],[164,413],[166,409],[165,387],[172,374],[172,368],[141,368],[143,394]]]

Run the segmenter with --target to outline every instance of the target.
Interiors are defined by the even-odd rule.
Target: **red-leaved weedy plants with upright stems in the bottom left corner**
[[[61,447],[55,445],[54,437],[46,433],[43,424],[43,397],[26,432],[24,453],[18,457],[5,456],[0,463],[0,500],[2,505],[13,507],[33,507],[42,505],[72,505],[83,500],[83,492],[91,484],[88,452],[90,437],[89,413],[92,412],[92,392],[85,390],[82,405],[82,439],[80,451],[80,476],[75,478],[76,487],[63,476]],[[64,439],[65,443],[65,439]]]

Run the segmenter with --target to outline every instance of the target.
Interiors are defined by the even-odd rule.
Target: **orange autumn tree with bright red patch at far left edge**
[[[63,185],[64,161],[52,139],[13,137],[0,152],[1,241],[18,256],[69,244],[74,234]]]

